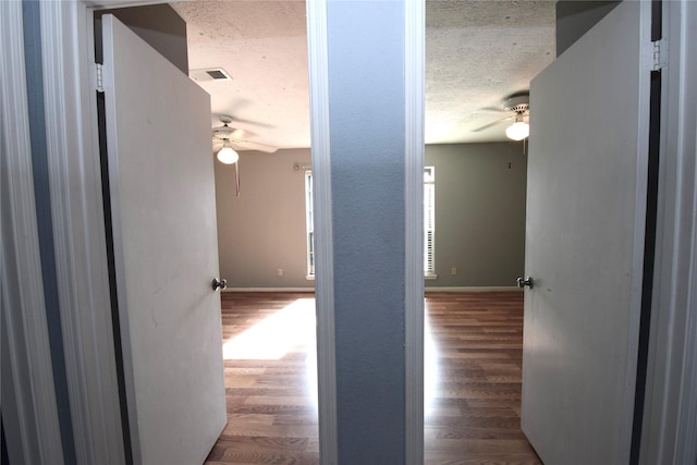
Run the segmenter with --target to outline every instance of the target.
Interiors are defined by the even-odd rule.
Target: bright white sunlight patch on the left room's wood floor
[[[278,360],[299,345],[315,352],[315,299],[298,298],[241,334],[225,341],[225,360]]]

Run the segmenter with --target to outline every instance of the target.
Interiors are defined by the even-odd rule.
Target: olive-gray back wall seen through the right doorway
[[[426,146],[436,167],[433,286],[512,286],[525,271],[522,143]],[[452,268],[457,274],[452,274]]]

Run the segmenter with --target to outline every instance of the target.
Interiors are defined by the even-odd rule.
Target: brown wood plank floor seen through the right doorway
[[[427,464],[539,464],[521,431],[523,294],[426,294]]]

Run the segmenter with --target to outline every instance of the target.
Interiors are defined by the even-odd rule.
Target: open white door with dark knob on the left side
[[[210,98],[118,20],[102,24],[134,462],[203,463],[227,418]]]

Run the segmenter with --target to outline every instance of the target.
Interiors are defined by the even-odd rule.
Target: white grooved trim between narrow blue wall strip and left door
[[[91,9],[41,2],[53,241],[78,463],[124,461],[101,196]],[[74,118],[65,118],[66,114]]]

